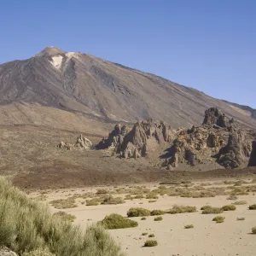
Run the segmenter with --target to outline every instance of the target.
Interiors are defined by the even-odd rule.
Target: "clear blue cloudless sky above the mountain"
[[[2,0],[0,63],[46,46],[256,108],[256,0]]]

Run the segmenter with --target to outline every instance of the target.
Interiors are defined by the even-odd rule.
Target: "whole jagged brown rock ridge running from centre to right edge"
[[[189,129],[172,130],[164,122],[153,119],[137,122],[132,129],[115,125],[96,149],[108,148],[119,157],[137,159],[151,158],[160,147],[166,146],[157,165],[169,170],[180,165],[200,166],[212,162],[224,168],[238,168],[247,166],[248,162],[256,166],[255,139],[255,131],[227,118],[218,108],[209,108],[202,125]]]

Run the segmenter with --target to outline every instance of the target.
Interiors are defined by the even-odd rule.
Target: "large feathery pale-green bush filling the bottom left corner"
[[[76,225],[53,216],[49,207],[32,201],[0,178],[0,247],[19,255],[40,247],[61,256],[117,256],[120,247],[99,225],[85,233]]]

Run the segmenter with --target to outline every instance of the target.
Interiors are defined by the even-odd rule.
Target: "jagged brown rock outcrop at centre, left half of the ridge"
[[[97,149],[113,148],[124,158],[146,156],[161,144],[171,142],[172,131],[164,122],[153,119],[137,122],[131,131],[124,125],[115,125],[108,138],[96,145]]]

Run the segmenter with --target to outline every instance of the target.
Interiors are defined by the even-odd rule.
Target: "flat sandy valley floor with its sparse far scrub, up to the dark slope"
[[[222,179],[210,181],[197,181],[194,183],[169,184],[165,187],[159,184],[143,184],[140,186],[126,185],[115,187],[85,187],[83,189],[49,189],[44,192],[32,192],[31,197],[38,197],[49,202],[52,212],[64,211],[75,216],[75,224],[83,228],[91,223],[102,220],[106,215],[118,213],[126,216],[131,207],[143,207],[149,210],[167,210],[174,205],[196,207],[196,212],[165,214],[162,221],[154,221],[155,216],[148,216],[145,220],[141,217],[131,218],[138,222],[136,228],[109,230],[111,235],[120,242],[123,251],[128,256],[140,255],[163,255],[163,256],[253,256],[256,251],[256,235],[252,235],[253,226],[256,226],[256,211],[249,210],[248,206],[256,203],[256,183],[251,179],[244,179],[243,183],[236,183],[237,180],[226,181]],[[251,189],[248,189],[248,188]],[[145,197],[150,191],[157,194],[158,199],[150,200]],[[155,190],[156,189],[156,190]],[[166,190],[165,190],[166,189]],[[179,195],[171,196],[175,189],[181,193],[196,193],[197,189],[204,191],[214,190],[216,196],[204,198],[188,198]],[[165,191],[164,191],[165,190]],[[198,190],[198,191],[199,191]],[[134,191],[137,191],[134,192]],[[144,192],[143,192],[144,191]],[[169,192],[168,192],[169,191]],[[244,193],[241,193],[243,191]],[[248,193],[246,191],[249,191]],[[121,197],[125,203],[117,205],[86,206],[86,199],[99,198],[101,193]],[[149,194],[148,194],[149,193]],[[151,192],[152,193],[152,192]],[[236,200],[228,200],[231,194],[236,195]],[[143,199],[134,199],[136,195],[143,195]],[[165,195],[163,195],[165,194]],[[183,196],[185,195],[183,194]],[[105,194],[106,195],[106,194]],[[133,197],[132,200],[128,200]],[[155,197],[156,198],[156,197]],[[62,207],[68,207],[68,201],[73,199],[73,208],[61,209],[55,200],[64,200]],[[150,202],[151,201],[151,202]],[[244,205],[236,205],[235,211],[223,212],[221,214],[201,214],[201,207],[210,205],[212,207],[223,207],[235,201],[246,201]],[[60,201],[59,201],[60,202]],[[65,206],[65,203],[67,205]],[[54,207],[55,206],[55,207]],[[224,216],[224,223],[217,224],[212,218],[217,215]],[[245,218],[237,220],[237,218]],[[193,229],[184,229],[184,225],[193,224]],[[143,247],[144,242],[150,238],[142,236],[143,233],[154,234],[158,241],[156,247]]]

